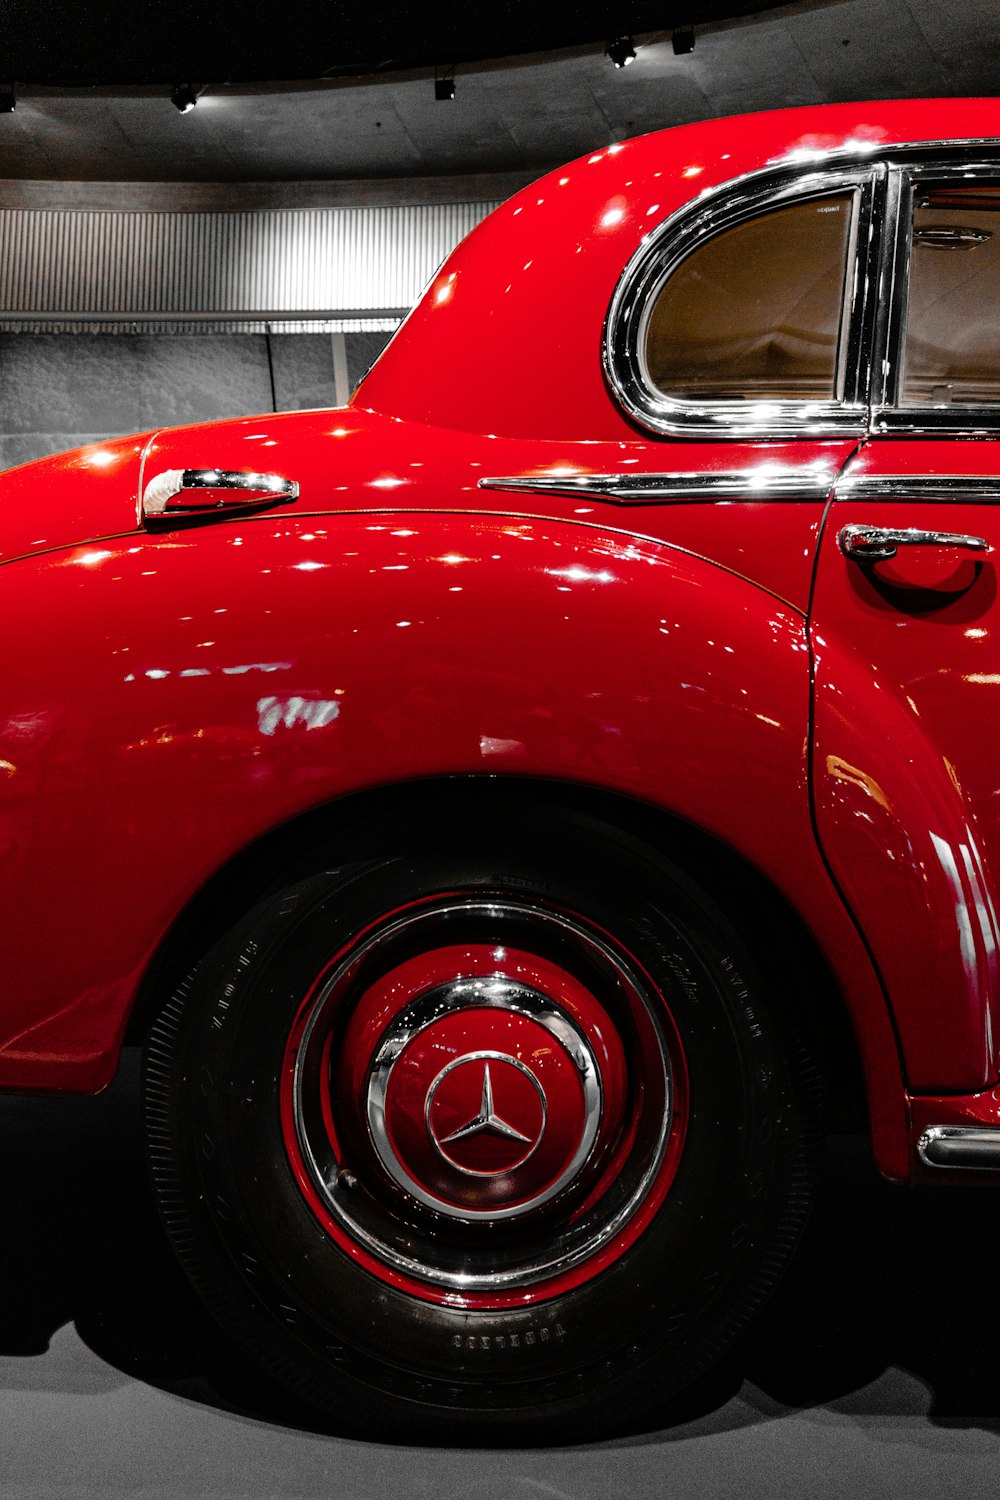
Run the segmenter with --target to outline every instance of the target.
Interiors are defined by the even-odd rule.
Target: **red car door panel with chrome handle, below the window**
[[[906,476],[996,471],[993,442],[871,442],[852,477],[898,476],[898,490],[834,504],[813,614],[819,834],[885,978],[910,1088],[925,1092],[982,1089],[999,1066],[1000,512],[915,500]],[[852,522],[994,550],[859,568],[835,544]]]

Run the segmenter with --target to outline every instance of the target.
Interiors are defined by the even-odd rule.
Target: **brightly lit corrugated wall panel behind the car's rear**
[[[492,202],[255,213],[0,210],[0,321],[216,314],[328,321],[412,306]],[[60,320],[58,314],[64,316]],[[52,316],[55,315],[55,316]],[[124,332],[132,332],[130,326]]]

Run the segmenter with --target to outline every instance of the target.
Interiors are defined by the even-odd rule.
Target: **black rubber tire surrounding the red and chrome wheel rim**
[[[321,1221],[301,1164],[298,1176],[292,1168],[288,1112],[282,1124],[282,1090],[306,1090],[288,1083],[289,1035],[333,956],[352,954],[358,934],[378,936],[379,921],[400,909],[439,922],[445,900],[448,910],[468,903],[477,922],[493,903],[529,938],[532,914],[565,921],[583,946],[588,934],[600,934],[609,951],[628,956],[655,1024],[669,1014],[676,1028],[663,1022],[672,1082],[679,1048],[687,1068],[685,1134],[663,1202],[651,1208],[652,1188],[642,1188],[646,1178],[625,1160],[624,1186],[613,1190],[619,1198],[612,1204],[603,1186],[598,1209],[604,1198],[612,1208],[601,1209],[603,1218],[598,1209],[583,1214],[598,1227],[586,1244],[601,1244],[601,1254],[588,1262],[585,1245],[579,1284],[567,1284],[573,1270],[550,1282],[552,1293],[544,1276],[514,1272],[529,1292],[541,1286],[526,1306],[486,1306],[487,1293],[465,1308],[454,1296],[441,1299],[433,1268],[459,1263],[447,1257],[466,1234],[468,1264],[486,1264],[489,1236],[408,1203],[397,1184],[382,1180],[364,1142],[352,1155],[345,1148],[352,1170],[369,1179],[360,1188],[355,1179],[354,1190],[378,1200],[387,1244],[399,1234],[399,1244],[424,1245],[432,1296],[399,1284],[393,1268],[373,1270],[367,1250],[358,1260],[345,1245],[351,1234],[336,1238]],[[379,963],[394,940],[373,944],[364,962]],[[571,968],[576,960],[561,951],[559,962]],[[346,960],[339,963],[342,974]],[[352,1002],[337,1004],[349,1010]],[[601,1004],[621,1014],[615,996]],[[348,1022],[330,1023],[331,1054]],[[633,1022],[624,1018],[621,1029],[625,1047],[636,1048]],[[628,1088],[646,1098],[649,1113],[655,1088],[648,1080]],[[334,1108],[355,1104],[334,1090]],[[429,807],[405,831],[394,816],[354,832],[316,873],[276,891],[222,934],[153,1020],[144,1112],[172,1244],[235,1340],[288,1389],[354,1431],[388,1425],[400,1436],[466,1440],[507,1431],[595,1436],[663,1402],[717,1360],[795,1248],[820,1132],[817,1077],[784,1006],[762,993],[706,896],[655,850],[601,822],[501,800],[474,813],[463,807],[459,818],[447,802]],[[429,1112],[430,1094],[427,1119]],[[652,1137],[643,1136],[649,1122],[634,1118],[631,1149],[648,1150],[652,1162]],[[306,1131],[300,1114],[294,1119]],[[666,1158],[655,1160],[663,1174]],[[630,1182],[639,1184],[630,1222],[645,1227],[627,1242],[628,1226],[619,1239],[610,1226]],[[501,1226],[511,1264],[534,1264],[538,1245],[574,1244],[582,1192],[571,1185],[513,1228]]]

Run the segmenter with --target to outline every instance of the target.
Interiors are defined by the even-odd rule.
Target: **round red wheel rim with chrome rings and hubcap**
[[[684,1144],[670,1010],[588,920],[456,892],[358,934],[306,996],[282,1128],[330,1238],[387,1284],[526,1305],[624,1256]]]

